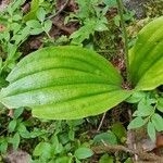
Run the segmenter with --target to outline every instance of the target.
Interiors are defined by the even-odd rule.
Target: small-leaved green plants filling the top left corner
[[[24,2],[25,0],[13,1],[2,13],[0,13],[0,24],[3,26],[3,30],[0,33],[0,74],[2,74],[0,80],[2,86],[4,85],[3,76],[5,76],[5,74],[15,66],[17,59],[22,54],[20,48],[27,38],[30,35],[38,35],[43,32],[50,38],[49,30],[51,29],[52,22],[50,20],[46,20],[46,15],[49,12],[45,10],[46,3],[43,1],[40,2],[41,5],[37,9],[35,20],[28,18],[29,21],[26,20],[25,22],[21,10]],[[5,59],[5,61],[2,62],[2,59]]]

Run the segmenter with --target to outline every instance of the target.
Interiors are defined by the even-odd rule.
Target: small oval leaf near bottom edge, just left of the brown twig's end
[[[93,154],[93,151],[86,147],[78,148],[74,153],[74,155],[79,160],[90,158],[92,154]]]

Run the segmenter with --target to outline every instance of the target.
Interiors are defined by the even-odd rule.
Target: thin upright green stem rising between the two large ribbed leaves
[[[125,64],[126,64],[126,72],[127,72],[127,82],[129,82],[129,59],[128,59],[128,39],[127,39],[127,32],[126,32],[126,26],[125,26],[125,21],[124,21],[124,5],[122,0],[116,0],[117,2],[117,9],[118,9],[118,14],[121,16],[121,26],[123,30],[123,37],[124,37],[124,57],[125,57]]]

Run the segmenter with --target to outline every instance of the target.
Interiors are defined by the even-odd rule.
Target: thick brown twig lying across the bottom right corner
[[[105,145],[104,143],[103,146],[96,146],[96,147],[92,147],[91,149],[97,154],[101,154],[101,153],[104,153],[104,152],[114,153],[114,152],[124,151],[124,152],[127,152],[127,153],[130,153],[130,154],[134,154],[134,155],[137,154],[139,156],[139,159],[145,160],[145,161],[156,161],[159,163],[161,163],[161,161],[162,161],[162,158],[158,156],[155,154],[128,149],[128,148],[126,148],[124,146],[121,146],[121,145],[111,146],[111,145]]]

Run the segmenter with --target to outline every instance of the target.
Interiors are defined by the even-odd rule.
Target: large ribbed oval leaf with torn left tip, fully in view
[[[25,57],[0,93],[8,108],[29,106],[50,120],[100,114],[126,99],[118,72],[101,55],[78,47],[51,47]]]

